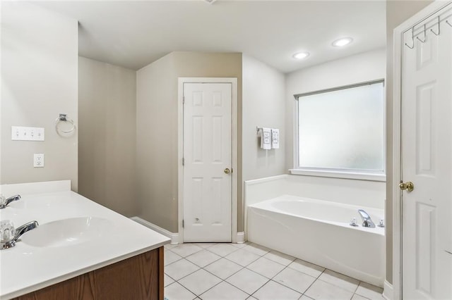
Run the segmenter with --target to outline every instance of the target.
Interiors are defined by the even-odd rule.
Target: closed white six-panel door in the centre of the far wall
[[[231,242],[232,84],[184,83],[184,242]]]

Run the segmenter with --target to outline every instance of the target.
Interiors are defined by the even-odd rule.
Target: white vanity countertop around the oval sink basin
[[[57,185],[46,182],[42,189],[36,184],[25,185],[22,185],[23,193],[18,191],[20,185],[2,186],[1,192],[5,196],[21,194],[22,199],[1,209],[0,220],[12,220],[18,227],[32,220],[37,220],[42,226],[61,219],[96,217],[108,220],[108,227],[89,242],[76,242],[69,246],[30,246],[19,239],[13,248],[0,250],[0,299],[11,299],[54,285],[170,241],[124,215],[71,192],[70,182],[69,185],[68,182],[57,182]],[[32,230],[26,232],[23,237],[32,233]]]

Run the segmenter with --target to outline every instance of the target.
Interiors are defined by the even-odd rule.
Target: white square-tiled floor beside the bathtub
[[[360,282],[258,244],[165,245],[165,297],[185,299],[378,299]]]

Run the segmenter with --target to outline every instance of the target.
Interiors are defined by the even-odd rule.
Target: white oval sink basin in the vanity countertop
[[[19,240],[35,247],[73,246],[98,239],[111,227],[112,222],[104,218],[69,218],[42,224]]]

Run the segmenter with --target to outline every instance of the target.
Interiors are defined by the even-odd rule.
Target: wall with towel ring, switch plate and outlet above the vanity
[[[71,180],[78,132],[60,137],[59,113],[78,124],[78,23],[22,1],[1,2],[1,184]],[[11,126],[44,127],[44,142],[11,141]],[[33,168],[33,154],[44,168]]]

